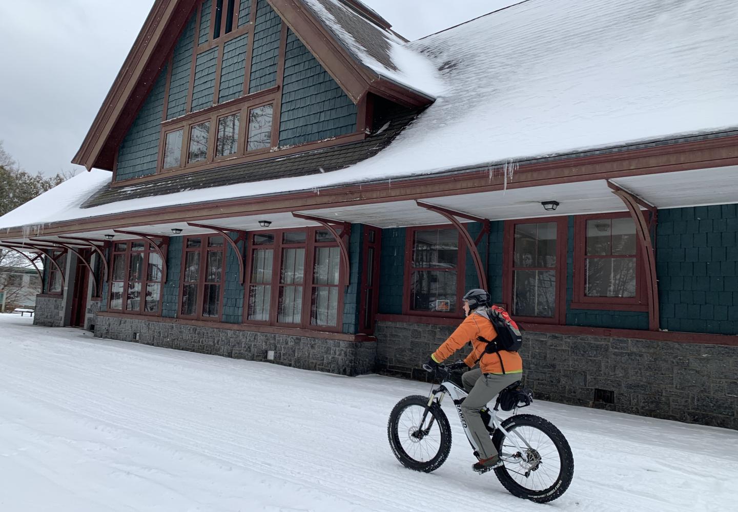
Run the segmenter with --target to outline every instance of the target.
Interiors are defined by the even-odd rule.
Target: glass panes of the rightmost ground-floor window
[[[635,297],[635,243],[630,217],[587,221],[587,297]]]

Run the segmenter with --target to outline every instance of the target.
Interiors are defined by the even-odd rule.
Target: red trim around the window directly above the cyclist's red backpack
[[[568,223],[566,216],[523,218],[505,221],[505,233],[503,238],[503,302],[509,306],[510,314],[513,312],[513,253],[515,243],[515,226],[517,224],[542,224],[545,222],[556,222],[556,300],[554,301],[554,316],[542,318],[540,316],[513,315],[517,322],[531,322],[537,324],[559,324],[566,323],[566,280],[567,280],[567,250],[568,250]]]

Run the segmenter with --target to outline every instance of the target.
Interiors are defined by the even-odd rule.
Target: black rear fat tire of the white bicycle
[[[569,488],[571,479],[574,475],[574,457],[571,453],[566,437],[561,433],[559,429],[554,426],[553,423],[547,421],[540,416],[534,416],[530,414],[521,414],[511,416],[503,421],[503,429],[508,430],[508,426],[532,426],[535,429],[539,429],[544,432],[545,435],[554,442],[556,450],[559,452],[559,459],[561,460],[561,470],[559,471],[559,478],[556,479],[550,487],[543,489],[542,491],[532,491],[531,489],[523,487],[517,483],[508,473],[505,466],[494,469],[494,474],[497,475],[497,480],[512,494],[513,496],[530,499],[536,503],[548,503],[554,501],[554,499],[560,497]],[[508,432],[510,432],[508,430]],[[500,444],[504,438],[503,432],[497,429],[492,436],[492,443],[500,452]]]

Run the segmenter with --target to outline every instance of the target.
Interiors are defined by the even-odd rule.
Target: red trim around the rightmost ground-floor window
[[[629,212],[576,215],[574,218],[574,281],[570,307],[573,309],[599,309],[614,311],[648,311],[648,294],[645,287],[643,252],[635,243],[635,297],[587,297],[584,271],[587,250],[587,221],[599,218],[631,218]]]

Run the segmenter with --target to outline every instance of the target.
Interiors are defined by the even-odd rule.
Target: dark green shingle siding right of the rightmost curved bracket
[[[738,334],[736,204],[658,210],[661,328]]]

